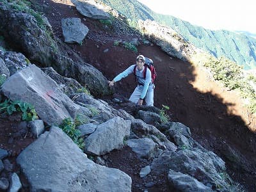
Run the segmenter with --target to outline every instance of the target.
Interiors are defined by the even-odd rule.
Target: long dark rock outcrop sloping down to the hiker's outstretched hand
[[[9,3],[0,4],[0,33],[13,49],[21,51],[40,67],[53,67],[61,76],[72,77],[86,84],[93,95],[109,95],[108,79],[92,65],[84,63],[77,54],[49,35],[35,17],[17,12]],[[41,28],[40,28],[41,27]],[[51,31],[51,28],[48,28]],[[68,54],[69,52],[69,54]],[[72,55],[72,59],[69,55]]]

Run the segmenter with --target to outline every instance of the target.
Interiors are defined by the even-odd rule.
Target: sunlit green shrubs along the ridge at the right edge
[[[254,72],[244,71],[243,67],[227,58],[216,59],[209,54],[195,54],[192,63],[211,70],[214,80],[220,81],[230,90],[236,90],[247,100],[246,106],[256,113],[256,77]]]

